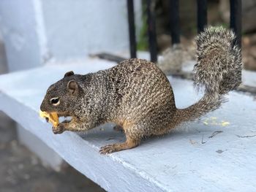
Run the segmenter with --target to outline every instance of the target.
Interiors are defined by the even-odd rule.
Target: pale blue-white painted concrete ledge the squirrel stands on
[[[48,86],[71,69],[85,74],[110,66],[89,59],[1,75],[0,110],[107,191],[256,191],[256,102],[242,93],[230,93],[221,109],[172,134],[110,155],[100,155],[99,147],[124,139],[110,124],[54,135],[38,115]],[[200,99],[191,81],[169,80],[178,107]]]

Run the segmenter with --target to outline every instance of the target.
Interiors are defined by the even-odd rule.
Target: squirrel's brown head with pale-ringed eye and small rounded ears
[[[78,85],[79,74],[67,72],[64,78],[50,85],[40,110],[43,112],[57,112],[59,116],[69,116],[70,107],[78,103],[79,96],[83,92]]]

